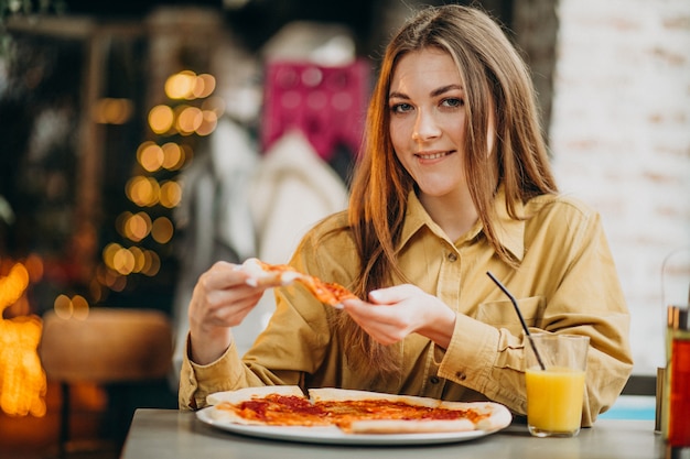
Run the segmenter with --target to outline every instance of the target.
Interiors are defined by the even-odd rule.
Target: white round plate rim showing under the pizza
[[[443,431],[435,434],[345,434],[333,427],[292,427],[292,426],[246,426],[227,420],[214,419],[213,406],[196,412],[196,417],[212,427],[233,434],[274,440],[301,441],[331,445],[429,445],[467,441],[496,433],[497,430]]]

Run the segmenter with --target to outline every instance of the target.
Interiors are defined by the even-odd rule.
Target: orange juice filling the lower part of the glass
[[[580,430],[584,371],[552,367],[546,371],[528,369],[527,424],[539,436],[574,435]]]

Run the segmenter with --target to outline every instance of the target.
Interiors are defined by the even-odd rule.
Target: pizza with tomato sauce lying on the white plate
[[[212,416],[242,425],[335,426],[346,434],[494,431],[510,424],[505,406],[492,402],[444,402],[341,389],[248,387],[208,396]]]

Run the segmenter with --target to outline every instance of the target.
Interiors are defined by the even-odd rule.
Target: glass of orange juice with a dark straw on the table
[[[580,433],[589,347],[590,338],[579,335],[528,337],[527,426],[535,437],[574,437]]]

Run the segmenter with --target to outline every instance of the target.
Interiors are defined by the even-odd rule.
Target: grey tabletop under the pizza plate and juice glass
[[[134,413],[121,459],[655,459],[665,457],[653,420],[600,419],[575,438],[533,438],[525,425],[470,441],[425,446],[312,445],[245,437],[198,420],[194,413],[140,408]]]

